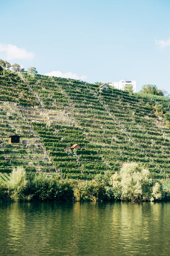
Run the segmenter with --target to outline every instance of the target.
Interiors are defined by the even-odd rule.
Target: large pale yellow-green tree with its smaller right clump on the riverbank
[[[136,163],[126,164],[112,176],[114,197],[122,201],[161,199],[163,190],[159,182],[150,177],[148,170]]]

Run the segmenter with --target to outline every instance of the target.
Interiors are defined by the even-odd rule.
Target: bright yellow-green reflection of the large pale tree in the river
[[[122,255],[141,252],[149,239],[149,220],[145,218],[146,203],[119,203],[113,209],[114,248]],[[144,247],[144,252],[148,252]]]

